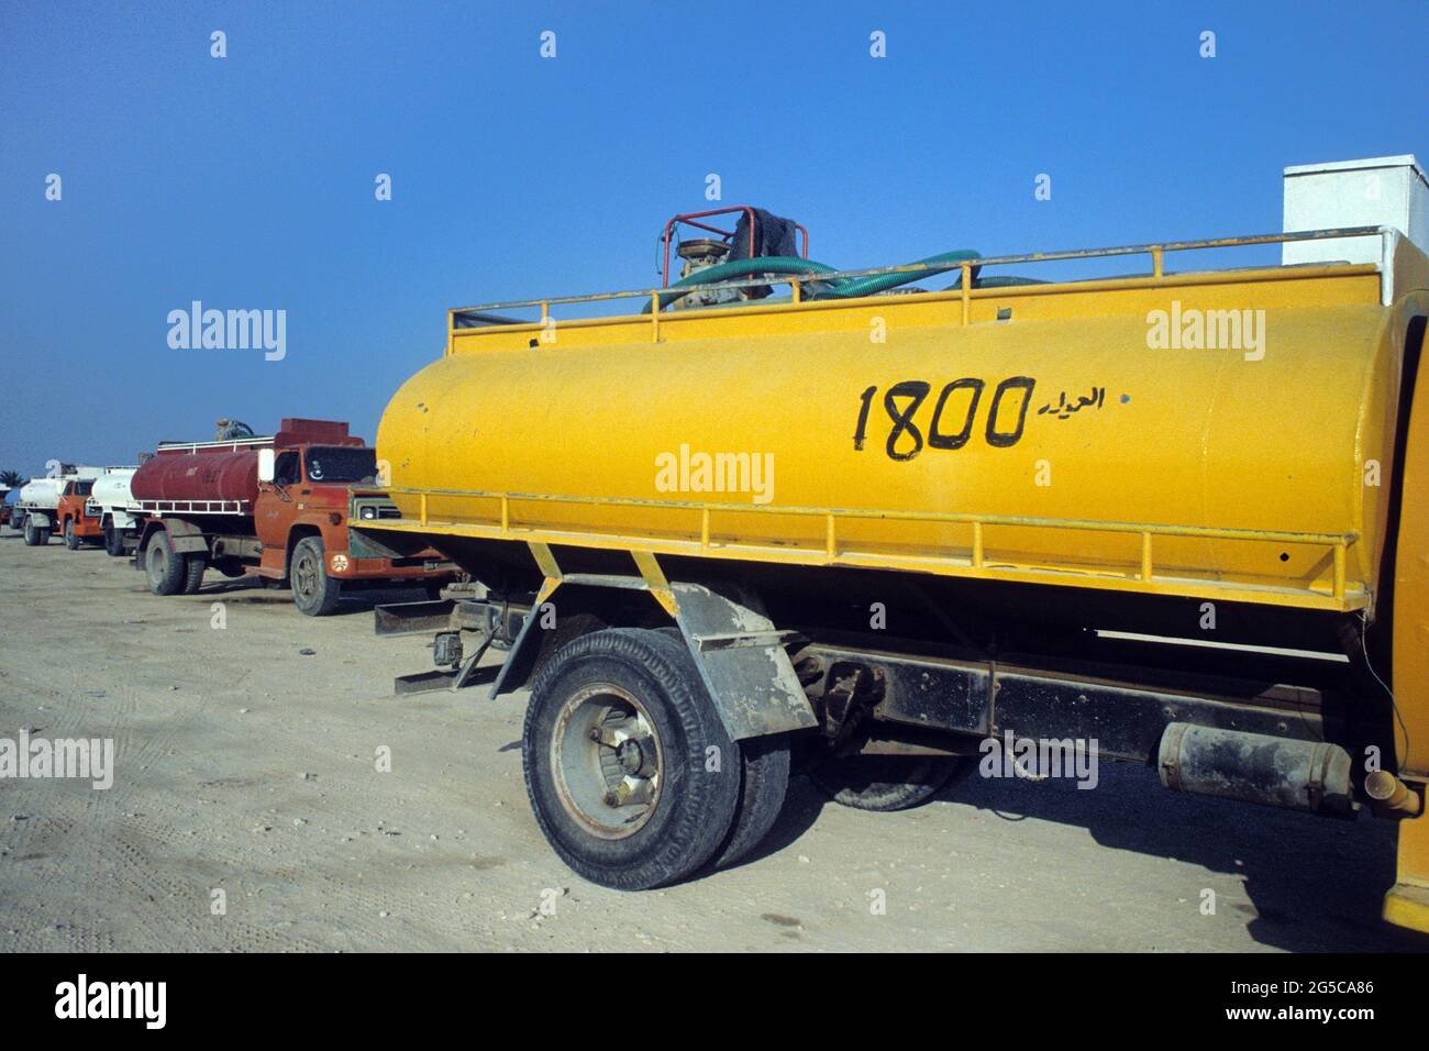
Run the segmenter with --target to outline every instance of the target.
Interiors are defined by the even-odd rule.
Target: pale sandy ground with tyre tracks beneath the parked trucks
[[[0,779],[0,949],[1429,945],[1378,919],[1392,827],[1175,795],[1127,766],[1095,791],[965,776],[890,815],[800,778],[752,862],[607,891],[530,815],[524,695],[394,698],[430,651],[374,638],[370,608],[314,621],[216,573],[156,598],[103,551],[6,529],[0,738],[113,738],[117,754],[109,791]]]

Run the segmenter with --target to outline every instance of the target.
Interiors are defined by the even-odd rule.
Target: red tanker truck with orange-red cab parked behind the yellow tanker
[[[130,482],[141,515],[134,565],[154,595],[191,595],[206,569],[289,583],[309,616],[333,612],[349,582],[440,589],[454,566],[366,545],[352,520],[394,518],[377,460],[346,423],[284,419],[272,436],[163,442]]]

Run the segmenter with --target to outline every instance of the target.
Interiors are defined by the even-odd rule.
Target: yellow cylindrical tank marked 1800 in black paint
[[[1358,609],[1405,316],[1346,265],[453,329],[377,452],[433,536]]]

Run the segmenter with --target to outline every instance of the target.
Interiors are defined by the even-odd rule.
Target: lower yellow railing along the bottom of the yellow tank
[[[486,490],[460,490],[460,489],[410,489],[389,486],[386,489],[389,495],[404,495],[416,496],[417,503],[417,522],[423,528],[434,525],[476,525],[490,529],[499,529],[502,538],[510,538],[513,531],[529,531],[533,533],[540,532],[567,532],[559,526],[542,526],[542,525],[513,525],[512,522],[512,503],[566,503],[566,505],[600,505],[600,506],[616,506],[616,508],[643,508],[643,509],[660,509],[660,510],[690,510],[699,512],[700,515],[700,539],[699,552],[700,553],[717,553],[727,551],[739,551],[747,548],[765,549],[767,545],[747,543],[739,541],[712,541],[712,518],[714,513],[737,513],[737,515],[789,515],[796,518],[822,518],[823,519],[823,533],[825,542],[822,552],[816,552],[812,548],[782,548],[790,553],[819,553],[823,562],[837,563],[840,561],[849,562],[853,552],[843,552],[837,543],[837,522],[845,520],[905,520],[905,522],[933,522],[940,525],[967,525],[972,526],[972,549],[965,556],[959,555],[945,555],[935,556],[947,565],[962,566],[966,565],[967,569],[986,572],[990,569],[1010,568],[1019,572],[1043,572],[1049,576],[1065,576],[1069,572],[1086,573],[1085,566],[1070,566],[1067,569],[1047,569],[1042,566],[1015,566],[1012,563],[1003,563],[999,561],[997,565],[990,565],[986,552],[985,529],[989,526],[995,528],[1023,528],[1023,529],[1065,529],[1069,532],[1099,532],[1099,533],[1126,533],[1135,535],[1140,541],[1139,566],[1135,579],[1147,586],[1157,582],[1165,582],[1169,578],[1157,576],[1153,563],[1153,538],[1205,538],[1215,541],[1246,541],[1246,542],[1263,542],[1263,543],[1286,543],[1286,545],[1305,545],[1315,548],[1328,548],[1332,555],[1332,578],[1330,578],[1330,596],[1338,603],[1343,603],[1348,596],[1348,563],[1349,563],[1349,549],[1359,539],[1359,533],[1313,533],[1313,532],[1290,532],[1283,529],[1233,529],[1225,526],[1177,526],[1177,525],[1150,525],[1139,522],[1100,522],[1087,519],[1055,519],[1055,518],[1027,518],[1027,516],[1009,516],[1009,515],[970,515],[957,512],[940,512],[940,510],[867,510],[859,508],[802,508],[802,506],[773,506],[760,503],[702,503],[694,500],[649,500],[636,498],[613,498],[613,496],[554,496],[547,493],[507,493],[507,492],[486,492]],[[500,522],[496,523],[479,523],[479,522],[452,522],[452,520],[436,520],[430,516],[430,498],[440,499],[483,499],[494,500],[500,503]],[[597,533],[597,531],[586,531],[587,535],[600,535],[607,538],[620,538],[627,542],[632,548],[644,548],[652,543],[659,545],[660,542],[669,542],[673,545],[682,545],[693,548],[693,541],[686,541],[680,535],[666,533],[663,536],[620,536],[617,533]],[[873,556],[880,558],[880,556]],[[863,559],[860,558],[860,562]],[[887,562],[897,562],[897,556],[887,556]],[[919,556],[919,562],[926,561],[926,556]],[[1107,575],[1103,572],[1103,575]],[[1116,573],[1123,576],[1123,573]],[[1180,578],[1177,578],[1180,579]],[[1236,588],[1235,583],[1228,583],[1225,581],[1216,581],[1215,583],[1226,588]],[[1248,588],[1249,589],[1249,588]],[[1306,593],[1318,595],[1315,588],[1302,588],[1290,591],[1303,591]]]

